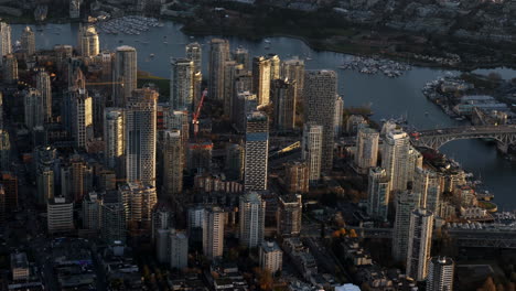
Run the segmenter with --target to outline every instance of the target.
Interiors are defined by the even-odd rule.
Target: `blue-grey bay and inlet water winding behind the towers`
[[[24,25],[13,25],[13,40],[18,40]],[[33,28],[34,29],[34,28]],[[52,48],[55,44],[76,45],[77,24],[47,24],[43,32],[36,32],[36,47]],[[205,44],[211,37],[190,37],[180,31],[181,25],[165,22],[163,28],[153,28],[141,35],[100,35],[100,47],[112,50],[118,45],[131,45],[138,50],[139,69],[157,76],[170,77],[171,56],[184,56],[184,45],[196,41]],[[57,34],[58,33],[58,34]],[[166,36],[166,37],[164,37]],[[122,42],[120,42],[120,40]],[[138,41],[138,42],[137,42]],[[149,42],[144,44],[142,42]],[[164,44],[166,41],[168,44]],[[229,37],[232,47],[241,45],[252,55],[277,53],[281,58],[299,55],[310,56],[307,68],[331,68],[338,72],[338,91],[344,97],[345,106],[372,105],[374,119],[399,117],[406,115],[410,125],[419,129],[458,126],[461,122],[449,118],[440,108],[427,100],[421,94],[422,86],[442,76],[445,72],[436,68],[415,67],[399,78],[388,78],[381,74],[363,75],[353,71],[341,71],[337,66],[344,55],[332,52],[315,52],[302,41],[290,37],[270,39],[270,50],[265,42],[250,42],[244,39]],[[155,56],[150,58],[153,53]],[[206,74],[207,46],[204,46],[203,63]],[[506,78],[516,77],[516,71],[509,68],[495,69]],[[493,72],[479,71],[482,73]],[[427,114],[428,112],[428,114]],[[480,140],[452,141],[440,149],[448,157],[455,159],[465,171],[481,175],[487,188],[495,193],[495,202],[499,209],[516,209],[516,196],[512,190],[516,177],[516,164],[499,155],[495,146]]]

